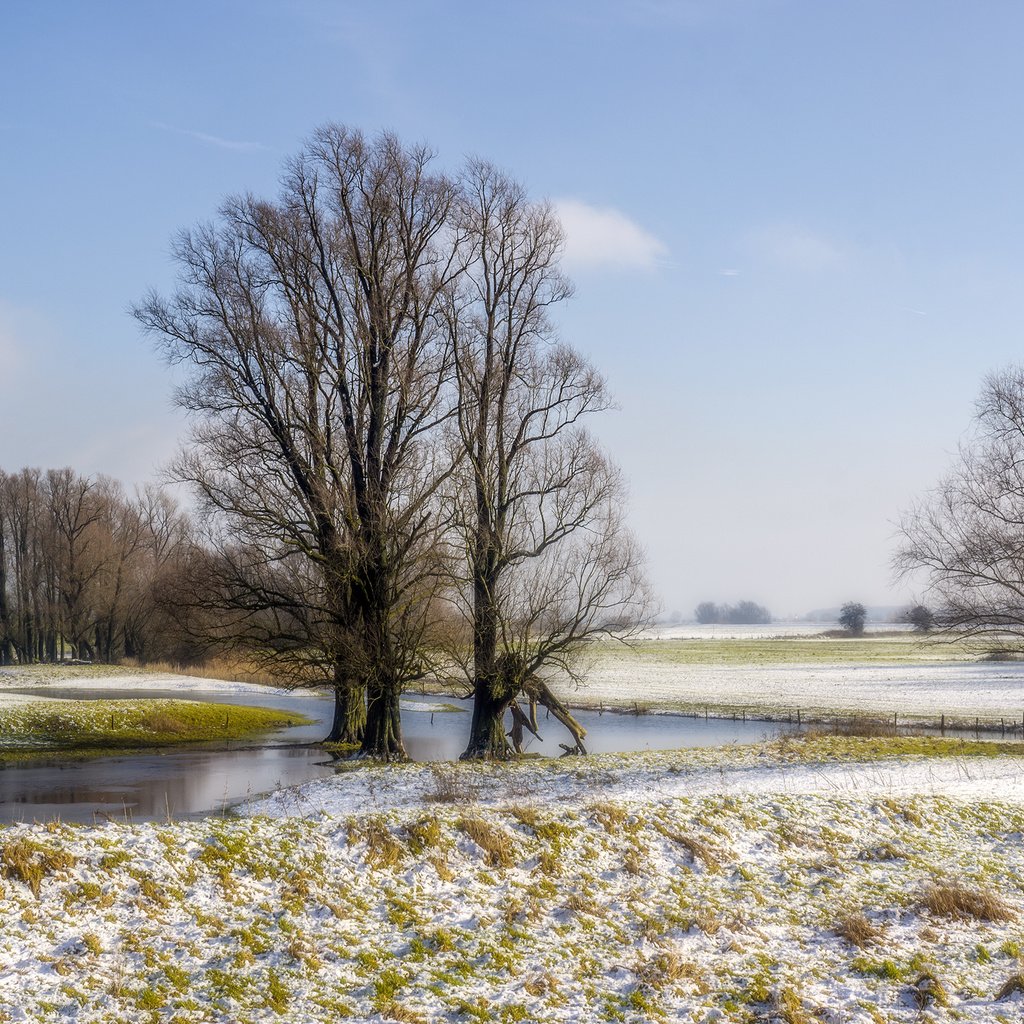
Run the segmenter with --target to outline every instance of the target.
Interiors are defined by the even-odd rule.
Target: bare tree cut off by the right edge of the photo
[[[955,464],[901,524],[896,568],[946,631],[1024,636],[1024,368],[988,377]]]

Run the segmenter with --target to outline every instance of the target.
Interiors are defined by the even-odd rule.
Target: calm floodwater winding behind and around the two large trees
[[[77,700],[138,697],[194,697],[219,703],[258,705],[294,711],[314,719],[236,749],[193,748],[125,755],[90,761],[33,761],[0,766],[0,821],[143,821],[218,813],[232,804],[282,786],[331,775],[334,762],[323,750],[305,745],[323,739],[334,711],[330,697],[288,693],[182,692],[180,690],[79,689],[47,686],[17,692]],[[441,705],[460,711],[433,711]],[[406,748],[417,761],[450,761],[465,749],[469,703],[409,694],[402,698]],[[755,742],[788,726],[766,722],[680,718],[669,715],[613,715],[580,712],[593,753],[713,746]],[[543,742],[530,737],[532,753],[557,755],[568,739],[554,720],[541,719]]]

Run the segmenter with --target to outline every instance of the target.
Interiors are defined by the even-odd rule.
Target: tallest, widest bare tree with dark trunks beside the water
[[[276,201],[229,200],[180,236],[180,291],[136,309],[194,368],[178,477],[242,550],[307,563],[335,627],[341,713],[354,737],[366,694],[361,750],[382,759],[406,756],[399,693],[426,671],[447,472],[433,443],[450,414],[438,303],[460,247],[455,187],[430,161],[392,135],[319,129]],[[265,594],[263,572],[233,583]]]

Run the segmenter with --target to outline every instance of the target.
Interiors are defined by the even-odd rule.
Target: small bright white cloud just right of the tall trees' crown
[[[565,265],[569,268],[649,270],[669,255],[664,242],[614,207],[560,199],[555,201],[555,210],[565,229]]]

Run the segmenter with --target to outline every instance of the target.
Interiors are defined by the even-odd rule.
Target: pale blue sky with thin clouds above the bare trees
[[[1021,358],[1024,6],[943,0],[6,3],[0,466],[156,475],[128,306],[317,124],[559,204],[566,340],[667,610],[908,596],[900,510]]]

